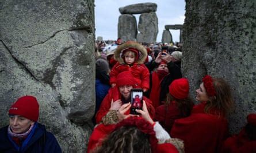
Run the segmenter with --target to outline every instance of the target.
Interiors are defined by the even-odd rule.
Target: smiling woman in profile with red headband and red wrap
[[[207,75],[196,93],[200,104],[190,116],[174,121],[171,136],[184,140],[186,153],[220,152],[228,136],[227,116],[234,107],[230,86]]]

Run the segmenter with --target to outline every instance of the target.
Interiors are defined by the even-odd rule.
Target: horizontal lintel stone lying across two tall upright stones
[[[156,3],[137,3],[133,5],[127,5],[120,7],[119,11],[121,14],[140,14],[155,12],[157,9]]]

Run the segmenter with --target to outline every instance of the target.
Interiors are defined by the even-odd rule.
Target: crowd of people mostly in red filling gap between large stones
[[[235,105],[224,79],[205,74],[195,91],[199,103],[193,103],[181,73],[181,44],[119,38],[96,44],[95,57],[96,74],[108,80],[96,75],[95,128],[87,152],[256,152],[256,113],[238,135],[228,131]],[[139,115],[130,114],[133,88],[143,90]]]

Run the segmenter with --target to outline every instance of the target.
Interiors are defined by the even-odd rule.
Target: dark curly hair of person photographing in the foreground
[[[135,126],[124,126],[113,131],[93,152],[151,153],[149,135]]]

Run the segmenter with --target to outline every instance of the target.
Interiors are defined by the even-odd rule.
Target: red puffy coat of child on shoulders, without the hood
[[[132,76],[135,78],[136,84],[140,88],[150,88],[150,72],[144,64],[137,63],[129,66],[127,64],[120,64],[119,62],[117,62],[117,64],[114,65],[110,72],[110,84],[116,84],[117,75],[127,70],[132,73]]]

